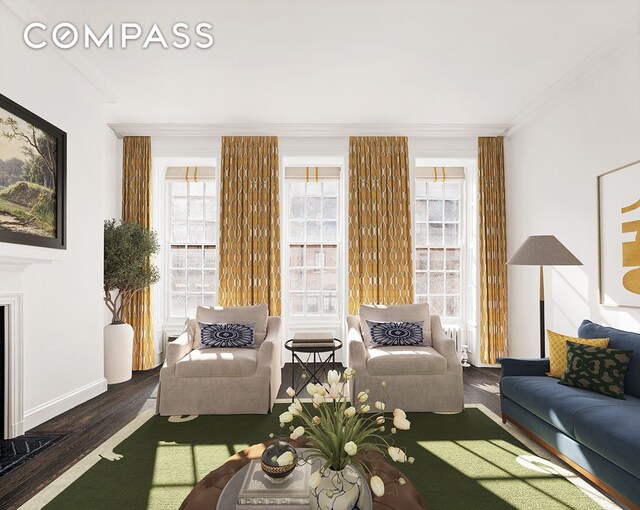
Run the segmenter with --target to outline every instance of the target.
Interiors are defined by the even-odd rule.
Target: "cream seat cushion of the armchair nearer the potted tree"
[[[258,349],[195,349],[176,363],[176,377],[248,377],[257,364]]]

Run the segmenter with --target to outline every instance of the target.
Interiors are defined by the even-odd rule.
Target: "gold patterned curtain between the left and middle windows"
[[[280,315],[277,137],[222,137],[221,170],[220,304]]]

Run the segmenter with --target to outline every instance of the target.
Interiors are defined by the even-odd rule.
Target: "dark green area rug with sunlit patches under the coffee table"
[[[177,509],[209,471],[277,432],[277,416],[285,407],[277,405],[271,415],[200,416],[182,422],[153,416],[113,448],[115,455],[103,450],[108,458],[93,461],[44,508]],[[456,415],[410,413],[409,419],[411,430],[399,432],[396,440],[416,461],[399,467],[429,510],[602,508],[480,409]]]

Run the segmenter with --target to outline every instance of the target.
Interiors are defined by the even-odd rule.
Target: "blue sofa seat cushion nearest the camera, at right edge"
[[[625,403],[627,405],[595,407],[576,413],[575,437],[640,478],[640,399],[628,396]]]

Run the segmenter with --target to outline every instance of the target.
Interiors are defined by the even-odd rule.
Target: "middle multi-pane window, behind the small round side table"
[[[339,168],[287,168],[285,178],[288,316],[337,319]]]

